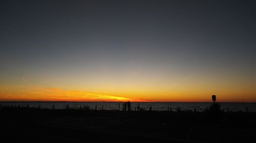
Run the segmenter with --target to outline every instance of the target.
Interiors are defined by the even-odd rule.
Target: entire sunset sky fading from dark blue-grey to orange
[[[256,1],[1,1],[0,101],[256,102]]]

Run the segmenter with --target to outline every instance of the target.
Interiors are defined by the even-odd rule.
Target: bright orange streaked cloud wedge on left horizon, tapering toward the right
[[[98,94],[84,91],[68,91],[57,88],[42,88],[38,86],[20,87],[17,93],[0,93],[0,101],[74,101],[74,102],[150,102],[146,99],[127,98],[108,94]],[[22,93],[23,95],[20,95]]]

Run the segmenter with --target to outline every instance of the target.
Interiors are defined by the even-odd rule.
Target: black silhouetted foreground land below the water
[[[256,142],[255,112],[7,107],[0,142]]]

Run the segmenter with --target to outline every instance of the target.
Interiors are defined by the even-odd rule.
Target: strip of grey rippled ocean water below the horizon
[[[97,105],[97,109],[104,110],[122,110],[122,104],[124,102],[0,102],[2,106],[27,106],[29,107],[40,107],[52,109],[53,105],[55,109],[65,109],[66,105],[69,105],[71,109],[78,109],[81,107],[89,107],[90,109],[95,109]],[[210,102],[131,102],[132,110],[140,104],[140,108],[144,110],[149,110],[150,106],[152,106],[152,110],[163,111],[167,110],[168,106],[172,108],[173,111],[181,109],[183,111],[189,111],[196,108],[197,111],[204,111],[206,107],[212,104]],[[248,107],[248,111],[256,112],[256,103],[219,103],[221,105],[221,109],[225,111],[246,111],[246,107]],[[120,105],[120,108],[119,108]]]

